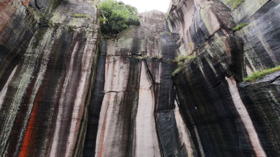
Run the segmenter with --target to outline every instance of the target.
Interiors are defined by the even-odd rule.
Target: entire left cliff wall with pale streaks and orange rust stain
[[[1,2],[0,155],[80,156],[98,58],[96,4],[28,2]]]

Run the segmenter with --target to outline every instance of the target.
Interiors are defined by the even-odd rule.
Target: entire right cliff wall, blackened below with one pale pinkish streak
[[[200,156],[279,156],[279,1],[172,1],[178,54],[195,55],[174,76],[178,106]],[[192,15],[192,16],[191,16]],[[233,26],[247,22],[236,32]]]

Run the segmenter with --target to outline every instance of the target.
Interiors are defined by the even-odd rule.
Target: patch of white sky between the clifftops
[[[118,0],[136,7],[139,13],[151,10],[167,12],[170,0]]]

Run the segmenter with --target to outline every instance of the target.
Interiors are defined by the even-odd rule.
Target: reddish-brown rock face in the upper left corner
[[[55,7],[46,5],[50,9]],[[29,1],[0,2],[0,89],[5,85],[12,70],[21,60],[39,24],[30,8]],[[41,12],[45,14],[45,12]]]

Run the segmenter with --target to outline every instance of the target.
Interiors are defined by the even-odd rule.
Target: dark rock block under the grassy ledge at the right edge
[[[255,83],[240,84],[240,95],[268,156],[279,154],[279,76],[269,74]]]

